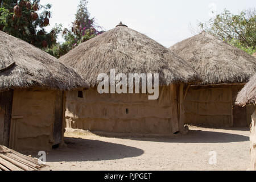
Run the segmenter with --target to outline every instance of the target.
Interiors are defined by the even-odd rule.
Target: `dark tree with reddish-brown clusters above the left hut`
[[[46,32],[51,18],[51,5],[40,0],[0,0],[0,30],[36,47],[46,48],[56,43],[60,26]]]

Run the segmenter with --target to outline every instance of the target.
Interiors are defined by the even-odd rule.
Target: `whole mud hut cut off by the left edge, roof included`
[[[2,31],[0,55],[0,144],[49,150],[62,143],[63,90],[86,88],[86,82],[55,57]]]

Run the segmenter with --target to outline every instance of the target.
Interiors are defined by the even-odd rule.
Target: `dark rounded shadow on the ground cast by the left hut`
[[[82,138],[64,138],[67,147],[48,152],[47,162],[100,161],[133,158],[144,153],[135,147]]]

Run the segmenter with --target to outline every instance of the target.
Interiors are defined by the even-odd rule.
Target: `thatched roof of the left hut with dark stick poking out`
[[[0,31],[0,90],[30,86],[63,90],[87,85],[73,68]]]

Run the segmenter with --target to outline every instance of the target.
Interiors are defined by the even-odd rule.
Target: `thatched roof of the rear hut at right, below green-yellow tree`
[[[199,73],[203,84],[242,83],[256,72],[256,59],[202,32],[170,47]]]

